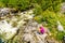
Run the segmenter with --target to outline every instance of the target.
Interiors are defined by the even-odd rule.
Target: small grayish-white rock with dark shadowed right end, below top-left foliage
[[[18,11],[16,11],[15,9],[10,9],[10,8],[0,9],[0,16],[5,16],[10,13],[18,13]]]

